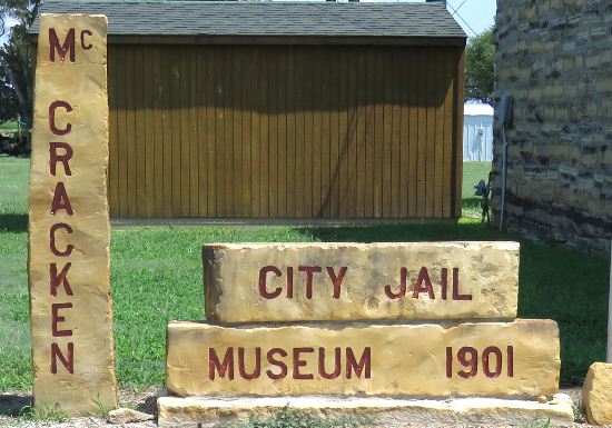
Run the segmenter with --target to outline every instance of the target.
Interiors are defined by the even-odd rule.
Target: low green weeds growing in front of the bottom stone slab
[[[284,407],[270,418],[253,418],[246,424],[231,428],[362,428],[374,425],[374,419],[366,416],[320,417],[305,411]],[[228,427],[229,428],[229,427]]]

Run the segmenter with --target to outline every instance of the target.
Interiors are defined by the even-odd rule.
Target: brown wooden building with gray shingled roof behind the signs
[[[113,218],[461,216],[466,37],[441,3],[41,12],[109,19]]]

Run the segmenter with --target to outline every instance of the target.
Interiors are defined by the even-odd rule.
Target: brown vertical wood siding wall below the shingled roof
[[[463,48],[111,44],[108,60],[115,218],[461,215]]]

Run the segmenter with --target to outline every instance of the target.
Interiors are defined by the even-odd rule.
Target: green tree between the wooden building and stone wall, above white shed
[[[473,37],[465,50],[465,99],[493,103],[493,28]]]

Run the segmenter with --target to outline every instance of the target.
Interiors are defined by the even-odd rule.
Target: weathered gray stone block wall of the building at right
[[[495,97],[514,97],[505,226],[610,248],[612,0],[497,0],[495,40]],[[494,132],[499,221],[503,145]]]

